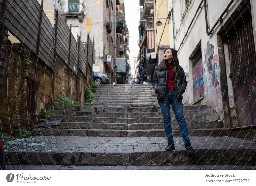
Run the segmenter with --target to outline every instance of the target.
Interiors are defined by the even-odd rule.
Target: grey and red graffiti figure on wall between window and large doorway
[[[204,61],[204,73],[206,74],[206,81],[209,90],[212,90],[211,100],[212,106],[215,107],[220,102],[220,66],[219,57],[214,54],[214,46],[207,42],[206,49],[204,50],[205,60]],[[222,104],[220,104],[222,109]]]

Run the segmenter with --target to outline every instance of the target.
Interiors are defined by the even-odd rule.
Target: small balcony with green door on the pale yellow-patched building
[[[64,19],[66,17],[78,17],[79,21],[82,22],[85,15],[85,4],[83,1],[60,3],[60,13]]]

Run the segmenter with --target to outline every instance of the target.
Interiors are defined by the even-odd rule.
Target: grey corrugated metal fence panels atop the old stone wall
[[[37,41],[38,41],[38,30],[40,24],[40,9],[41,6],[37,1],[31,0],[6,0],[6,13],[5,13],[5,27],[20,41],[22,42],[31,52],[36,54]],[[54,28],[52,27],[46,14],[43,12],[42,15],[42,27],[40,37],[40,52],[39,59],[46,64],[50,69],[53,70],[54,66]],[[0,2],[0,18],[3,17],[3,0]],[[63,60],[67,61],[70,52],[70,66],[71,71],[77,75],[77,59],[78,59],[78,42],[75,37],[71,34],[70,28],[65,23],[60,15],[58,15],[57,24],[57,55]],[[1,19],[2,20],[2,19]],[[90,37],[84,46],[80,42],[79,52],[79,68],[82,74],[86,77],[86,64],[92,67],[92,52],[94,50]],[[87,50],[88,47],[88,50]],[[88,51],[88,54],[87,54]],[[95,58],[95,55],[94,55]]]

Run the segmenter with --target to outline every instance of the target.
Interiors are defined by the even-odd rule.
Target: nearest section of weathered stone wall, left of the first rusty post
[[[13,129],[25,128],[30,114],[26,109],[27,79],[33,79],[33,65],[27,64],[23,56],[24,50],[5,42],[5,61],[3,69],[3,84],[1,91],[1,125],[2,132],[10,134]],[[31,60],[33,57],[31,57]],[[12,129],[12,130],[11,130]]]

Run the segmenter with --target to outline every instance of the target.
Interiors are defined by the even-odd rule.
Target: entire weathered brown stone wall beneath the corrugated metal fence
[[[21,49],[22,43],[14,44],[10,41],[5,42],[5,61],[3,65],[2,86],[0,86],[1,109],[1,125],[2,132],[11,134],[14,129],[29,128],[30,116],[27,107],[31,104],[31,98],[27,97],[29,92],[29,80],[34,80],[36,55],[30,54],[29,50]],[[23,57],[27,54],[31,63]],[[90,68],[88,68],[90,69]],[[70,73],[69,96],[68,88],[68,72]],[[69,70],[67,61],[62,61],[57,57],[55,62],[55,85],[54,85],[54,101],[61,96],[71,97],[76,100],[76,91],[78,91],[78,100],[84,103],[85,81],[84,75],[80,74],[79,87],[77,87],[77,76]],[[89,73],[90,74],[90,73]],[[37,64],[37,90],[36,90],[36,107],[34,122],[39,119],[39,113],[42,108],[52,106],[52,75],[51,69],[38,61]],[[89,75],[90,76],[90,75]],[[87,78],[87,85],[90,85],[90,78]],[[81,85],[81,86],[80,86]],[[34,86],[33,86],[34,88]],[[27,103],[26,103],[27,100]],[[28,104],[28,105],[27,105]],[[33,112],[33,111],[31,111]]]

